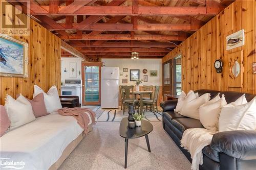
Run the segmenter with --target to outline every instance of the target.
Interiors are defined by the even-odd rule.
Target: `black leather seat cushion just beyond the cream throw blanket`
[[[182,133],[190,128],[204,128],[200,120],[194,118],[176,118],[170,122],[175,128],[179,129]]]

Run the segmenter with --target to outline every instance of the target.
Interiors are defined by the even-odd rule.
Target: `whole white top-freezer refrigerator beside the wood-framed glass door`
[[[101,67],[101,108],[119,108],[119,67]]]

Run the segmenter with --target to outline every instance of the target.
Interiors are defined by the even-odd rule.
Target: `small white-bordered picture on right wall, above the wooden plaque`
[[[227,42],[227,47],[226,47],[227,50],[231,50],[233,48],[244,45],[244,42],[245,42],[244,30],[240,30],[236,33],[228,35],[226,37],[226,42]]]

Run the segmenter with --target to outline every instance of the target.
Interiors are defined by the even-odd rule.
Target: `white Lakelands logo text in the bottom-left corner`
[[[10,158],[0,158],[0,169],[23,169],[25,161],[13,161]]]

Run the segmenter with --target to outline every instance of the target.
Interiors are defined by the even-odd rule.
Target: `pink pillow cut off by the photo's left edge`
[[[5,133],[10,125],[11,122],[9,120],[5,106],[0,105],[0,137]]]

